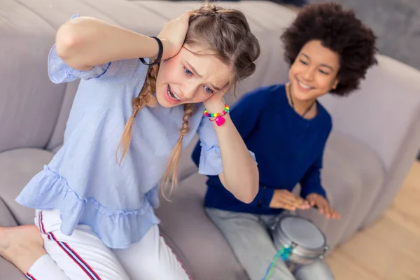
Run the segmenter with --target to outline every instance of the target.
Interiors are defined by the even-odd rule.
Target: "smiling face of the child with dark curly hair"
[[[325,48],[321,41],[309,41],[290,66],[293,97],[308,102],[330,92],[339,83],[338,71],[339,55]]]

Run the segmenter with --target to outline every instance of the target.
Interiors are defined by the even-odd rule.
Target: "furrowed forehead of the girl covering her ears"
[[[214,83],[217,87],[225,86],[232,76],[230,66],[200,46],[184,45],[179,52],[179,58],[186,67],[190,64],[206,82]]]

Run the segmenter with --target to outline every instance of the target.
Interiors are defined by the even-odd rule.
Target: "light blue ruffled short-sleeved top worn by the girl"
[[[110,248],[126,248],[158,224],[158,188],[169,156],[179,139],[183,106],[145,107],[132,127],[130,150],[121,166],[116,151],[132,99],[137,97],[148,66],[128,59],[76,71],[64,64],[55,46],[48,57],[53,83],[80,78],[64,132],[64,145],[25,186],[16,201],[25,207],[59,209],[61,230],[71,235],[78,224],[90,225]],[[195,104],[183,148],[197,132],[202,143],[199,172],[222,172],[216,132]]]

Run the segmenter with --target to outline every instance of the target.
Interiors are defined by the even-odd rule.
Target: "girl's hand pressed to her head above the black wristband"
[[[183,42],[186,39],[188,30],[188,21],[191,12],[183,13],[181,17],[174,18],[169,22],[165,22],[158,38],[163,44],[162,60],[169,59],[178,54],[181,50]]]

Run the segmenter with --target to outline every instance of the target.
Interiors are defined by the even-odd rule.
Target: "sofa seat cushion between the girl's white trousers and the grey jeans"
[[[203,208],[205,176],[194,174],[182,181],[169,197],[160,198],[156,211],[160,228],[176,244],[177,252],[193,279],[246,280],[248,276],[237,262],[221,232],[211,223]],[[174,246],[172,246],[174,248]]]

